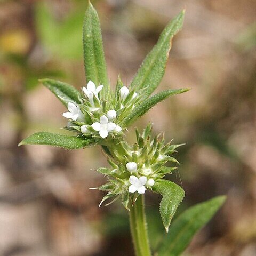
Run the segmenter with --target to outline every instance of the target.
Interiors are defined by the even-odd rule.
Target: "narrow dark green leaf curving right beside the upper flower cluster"
[[[135,106],[131,114],[124,118],[123,125],[131,125],[133,122],[135,122],[137,118],[144,115],[150,108],[154,107],[157,103],[163,101],[167,97],[187,92],[188,90],[189,89],[166,90],[153,95],[149,99],[146,99],[145,101],[140,103],[138,106]]]

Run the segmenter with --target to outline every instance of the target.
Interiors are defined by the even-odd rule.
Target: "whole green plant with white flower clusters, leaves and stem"
[[[167,162],[178,163],[172,157],[181,145],[165,143],[162,134],[153,136],[152,125],[136,130],[137,141],[129,145],[124,139],[127,127],[134,123],[158,102],[188,89],[165,90],[150,96],[164,75],[171,41],[182,27],[185,11],[181,11],[164,29],[153,50],[147,55],[129,87],[118,77],[115,90],[110,90],[103,53],[99,18],[89,3],[83,26],[84,64],[87,85],[77,91],[75,87],[52,79],[40,81],[68,109],[63,117],[68,119],[65,129],[75,135],[38,132],[22,140],[19,145],[37,144],[58,146],[65,149],[86,148],[100,145],[111,167],[100,167],[108,182],[98,188],[106,191],[99,206],[111,198],[121,198],[129,210],[131,232],[137,255],[151,255],[147,236],[143,194],[146,190],[162,195],[160,214],[168,233],[169,226],[185,193],[183,189],[164,179],[176,168]],[[219,209],[224,197],[196,205],[180,215],[171,226],[171,233],[164,238],[158,255],[180,255],[189,241]],[[201,216],[203,214],[203,217]],[[193,218],[193,223],[190,219]],[[183,232],[187,229],[187,232]]]

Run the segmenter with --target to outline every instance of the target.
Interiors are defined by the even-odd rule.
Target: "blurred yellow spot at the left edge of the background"
[[[30,44],[31,36],[26,30],[7,31],[0,36],[0,49],[7,53],[25,54]]]

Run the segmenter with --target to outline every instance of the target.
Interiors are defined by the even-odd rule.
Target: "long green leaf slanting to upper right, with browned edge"
[[[185,10],[181,11],[177,17],[166,26],[160,35],[157,44],[147,55],[137,74],[133,78],[130,85],[131,89],[138,92],[142,88],[147,88],[145,92],[143,92],[143,95],[141,95],[143,98],[147,98],[153,93],[162,80],[172,45],[172,38],[181,29],[184,14]]]

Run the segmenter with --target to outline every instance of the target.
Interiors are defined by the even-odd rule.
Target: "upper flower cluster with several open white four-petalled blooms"
[[[89,81],[87,86],[82,88],[81,104],[68,102],[68,112],[63,113],[63,117],[69,119],[66,129],[95,138],[95,141],[105,139],[109,134],[115,138],[122,132],[122,127],[118,125],[119,117],[125,116],[126,111],[134,106],[138,94],[133,92],[127,101],[129,89],[122,86],[117,97],[110,95],[106,104],[100,96],[103,87],[96,87]]]

